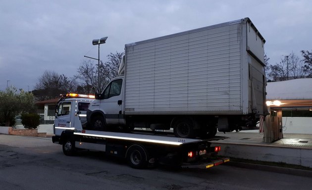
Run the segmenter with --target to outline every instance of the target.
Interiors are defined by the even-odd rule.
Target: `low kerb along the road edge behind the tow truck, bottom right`
[[[268,165],[261,165],[261,164],[251,164],[251,163],[244,163],[244,162],[233,162],[233,161],[227,162],[226,165],[238,167],[238,168],[261,170],[261,171],[267,171],[267,172],[275,172],[275,173],[280,173],[280,174],[288,174],[288,175],[312,178],[312,171],[310,170],[301,170],[301,169],[268,166]]]

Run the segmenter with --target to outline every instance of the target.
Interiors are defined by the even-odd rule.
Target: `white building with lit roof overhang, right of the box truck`
[[[284,134],[312,134],[312,79],[270,82],[266,99],[278,100],[282,108]]]

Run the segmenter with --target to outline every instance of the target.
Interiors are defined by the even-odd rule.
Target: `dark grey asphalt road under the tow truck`
[[[49,138],[0,135],[0,190],[300,190],[312,180],[219,165],[136,170],[123,160],[82,151],[69,157]]]

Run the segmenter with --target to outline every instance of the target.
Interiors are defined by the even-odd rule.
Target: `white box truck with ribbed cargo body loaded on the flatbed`
[[[181,138],[256,129],[267,114],[264,43],[244,18],[126,44],[87,120],[93,130],[173,128]]]

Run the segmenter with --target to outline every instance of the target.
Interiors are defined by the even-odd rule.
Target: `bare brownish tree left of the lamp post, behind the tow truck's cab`
[[[38,100],[46,100],[58,97],[60,94],[76,92],[77,82],[74,78],[68,78],[64,74],[57,74],[54,71],[45,71],[39,77],[39,83],[36,84],[34,95]]]

